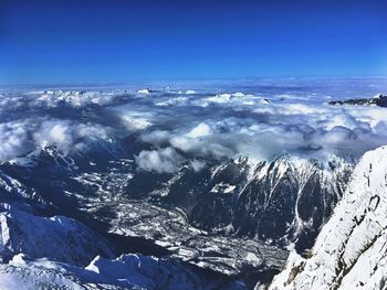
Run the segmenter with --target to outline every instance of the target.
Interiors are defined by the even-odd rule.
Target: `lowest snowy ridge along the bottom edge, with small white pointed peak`
[[[0,264],[1,290],[244,289],[242,282],[209,278],[211,280],[175,260],[134,254],[116,259],[97,256],[85,268],[45,258],[30,260],[22,254],[14,256],[7,265]]]

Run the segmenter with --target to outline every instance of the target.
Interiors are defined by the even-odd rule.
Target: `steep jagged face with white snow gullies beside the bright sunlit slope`
[[[351,165],[335,170],[287,158],[261,163],[240,193],[233,226],[239,234],[310,246],[345,189]]]

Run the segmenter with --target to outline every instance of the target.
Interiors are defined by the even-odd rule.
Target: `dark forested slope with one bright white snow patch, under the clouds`
[[[249,171],[247,159],[228,160],[199,172],[185,170],[165,189],[165,201],[185,208],[196,226],[221,230],[232,219],[238,193],[248,182]]]

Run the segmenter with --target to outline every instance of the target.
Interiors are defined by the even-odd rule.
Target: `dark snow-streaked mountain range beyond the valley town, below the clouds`
[[[96,144],[87,153],[71,155],[46,147],[6,162],[0,165],[7,176],[2,183],[24,186],[17,194],[38,198],[60,214],[71,214],[76,207],[87,210],[102,201],[149,201],[182,210],[189,223],[202,230],[282,246],[292,241],[302,251],[313,244],[341,198],[354,162],[282,154],[259,163],[248,158],[206,160],[200,170],[184,163],[175,173],[155,174],[136,170],[130,159],[119,159],[128,155],[121,150],[112,152],[103,141]],[[44,180],[46,175],[50,182]]]

